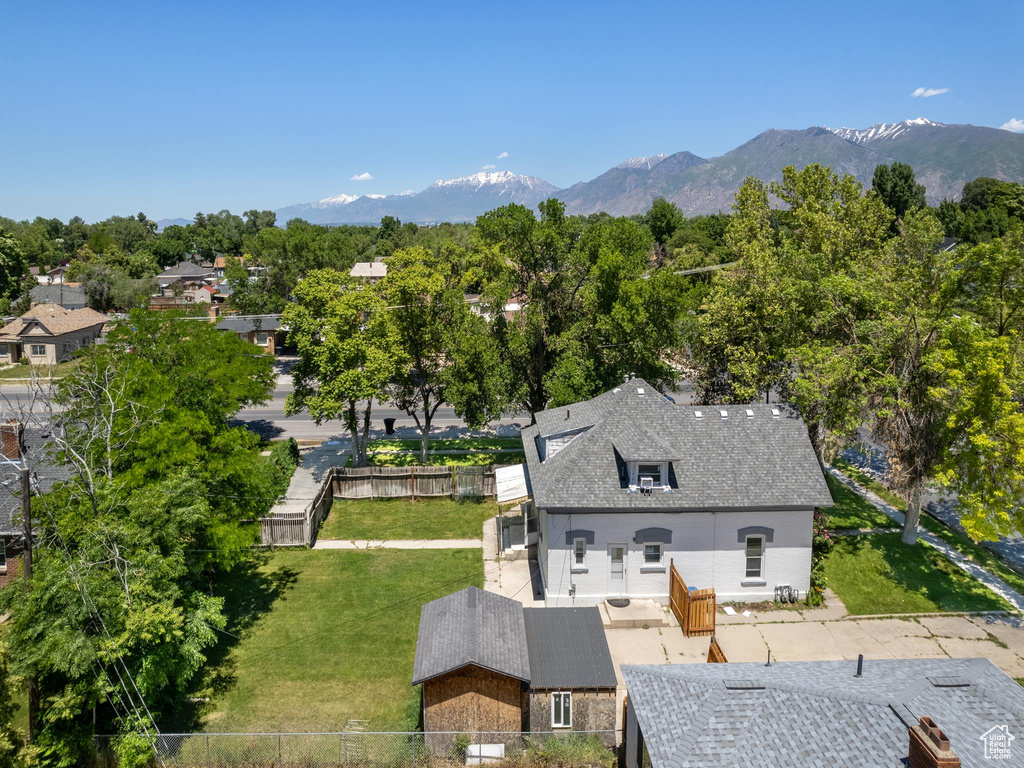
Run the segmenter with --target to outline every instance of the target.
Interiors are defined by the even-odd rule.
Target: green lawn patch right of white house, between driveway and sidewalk
[[[855,615],[1011,609],[941,553],[923,542],[908,547],[899,534],[836,539],[825,577]]]

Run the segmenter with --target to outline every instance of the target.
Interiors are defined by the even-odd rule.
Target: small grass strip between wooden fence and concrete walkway
[[[479,539],[494,499],[336,499],[319,539]]]

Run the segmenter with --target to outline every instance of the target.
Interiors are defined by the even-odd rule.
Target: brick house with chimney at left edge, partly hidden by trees
[[[0,588],[20,573],[25,549],[20,473],[17,466],[7,462],[28,464],[34,493],[45,493],[70,476],[66,467],[54,464],[46,455],[48,438],[49,433],[41,429],[26,429],[12,422],[0,424],[0,454],[5,460],[0,463]]]

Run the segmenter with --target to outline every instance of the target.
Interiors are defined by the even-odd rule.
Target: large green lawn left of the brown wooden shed
[[[423,603],[483,585],[480,550],[279,550],[240,566],[215,594],[229,614],[203,679],[210,697],[165,730],[414,730],[410,685]]]

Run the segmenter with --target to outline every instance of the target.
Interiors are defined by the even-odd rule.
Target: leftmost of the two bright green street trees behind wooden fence
[[[321,269],[298,285],[282,323],[299,353],[286,412],[308,411],[317,424],[343,421],[352,463],[366,466],[373,401],[387,397],[400,353],[384,301],[347,274]]]

